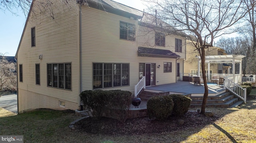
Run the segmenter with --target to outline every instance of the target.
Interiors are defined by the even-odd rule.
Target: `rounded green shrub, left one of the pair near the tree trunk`
[[[147,102],[148,116],[158,120],[167,119],[172,114],[173,106],[171,96],[153,96]]]

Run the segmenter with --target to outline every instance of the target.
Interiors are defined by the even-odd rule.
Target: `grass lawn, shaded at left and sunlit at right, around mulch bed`
[[[255,91],[254,91],[255,92]],[[256,143],[256,99],[238,108],[214,110],[219,120],[203,128],[153,135],[91,135],[69,129],[73,112],[36,110],[13,114],[0,108],[0,135],[24,135],[24,143]]]

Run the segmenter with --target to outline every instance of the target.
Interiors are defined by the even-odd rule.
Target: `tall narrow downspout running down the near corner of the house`
[[[81,5],[79,4],[79,62],[80,62],[80,93],[82,92],[82,14]],[[83,110],[82,102],[80,99],[80,110]]]

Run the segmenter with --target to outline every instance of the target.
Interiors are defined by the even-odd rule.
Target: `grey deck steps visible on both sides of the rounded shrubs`
[[[141,91],[138,97],[142,101],[148,101],[152,96],[169,95],[169,92],[150,92]],[[192,102],[190,107],[201,107],[203,96],[191,96]],[[206,107],[234,107],[242,104],[239,98],[236,98],[230,92],[224,92],[216,96],[208,96]]]

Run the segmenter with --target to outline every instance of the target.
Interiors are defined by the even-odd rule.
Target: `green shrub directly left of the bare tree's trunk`
[[[172,115],[181,116],[188,112],[188,108],[190,107],[191,98],[180,95],[180,94],[171,94],[174,106],[172,109]]]

